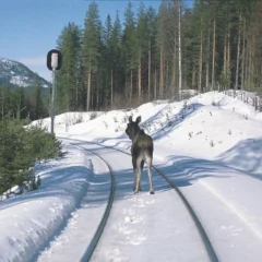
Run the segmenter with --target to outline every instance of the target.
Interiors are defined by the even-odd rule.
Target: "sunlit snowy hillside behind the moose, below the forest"
[[[141,127],[154,138],[156,152],[209,159],[225,159],[227,155],[233,159],[233,152],[240,147],[243,151],[248,144],[257,155],[258,146],[252,147],[250,143],[262,138],[262,112],[217,92],[180,103],[157,100],[131,110],[67,112],[56,117],[55,131],[60,136],[121,146],[128,141],[124,129],[131,115],[133,118],[142,116]],[[44,119],[43,124],[50,129],[50,119]],[[261,165],[254,166],[249,170],[262,171]]]

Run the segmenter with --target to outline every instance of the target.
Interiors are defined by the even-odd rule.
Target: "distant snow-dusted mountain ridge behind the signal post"
[[[51,85],[48,81],[34,73],[23,63],[0,58],[0,85],[9,83],[10,85],[28,87],[32,86],[36,81],[43,87],[48,87]]]

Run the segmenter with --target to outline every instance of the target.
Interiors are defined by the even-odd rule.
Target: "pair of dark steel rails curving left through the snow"
[[[64,140],[69,140],[69,141],[72,141],[70,139],[64,139]],[[78,140],[73,140],[73,141],[78,141]],[[83,141],[79,141],[79,142],[83,142]],[[114,151],[118,151],[118,152],[121,152],[122,154],[126,154],[126,155],[131,155],[124,151],[121,151],[119,148],[116,148],[116,147],[110,147],[110,146],[105,146],[103,144],[99,144],[99,143],[95,143],[95,142],[84,142],[84,143],[87,143],[87,144],[93,144],[93,145],[98,145],[100,147],[104,147],[104,148],[109,148],[109,150],[114,150]],[[104,228],[106,227],[106,223],[107,223],[107,219],[109,217],[109,214],[110,214],[110,211],[111,211],[111,207],[112,207],[112,202],[114,202],[114,195],[115,195],[115,191],[116,191],[116,182],[115,182],[115,177],[114,177],[114,172],[112,172],[112,168],[110,167],[110,165],[108,164],[107,160],[105,160],[98,153],[95,153],[93,150],[90,150],[90,148],[86,148],[82,145],[76,145],[76,144],[73,144],[73,143],[70,143],[74,146],[78,146],[82,150],[85,150],[92,154],[94,154],[95,156],[99,157],[107,166],[108,166],[108,169],[109,169],[109,172],[110,172],[110,177],[111,177],[111,187],[110,187],[110,193],[109,193],[109,198],[108,198],[108,203],[107,203],[107,207],[105,210],[105,213],[104,213],[104,216],[99,223],[99,226],[88,246],[88,249],[84,255],[84,259],[82,261],[90,261],[91,258],[92,258],[92,254],[94,252],[94,250],[96,249],[96,246],[99,241],[99,238],[102,237],[102,234],[103,234],[103,230]],[[179,195],[180,200],[182,201],[182,203],[184,204],[189,215],[191,216],[196,229],[198,229],[198,233],[199,233],[199,236],[202,240],[202,243],[204,246],[204,249],[206,251],[206,255],[209,257],[209,261],[211,262],[218,262],[218,258],[216,255],[216,252],[211,243],[211,240],[209,239],[209,236],[207,234],[205,233],[204,230],[204,227],[203,225],[201,224],[198,215],[195,214],[193,207],[190,205],[190,203],[187,201],[186,196],[182,194],[182,192],[179,190],[179,188],[175,184],[174,181],[171,181],[159,168],[156,168],[155,166],[153,166],[153,169],[162,177],[166,180],[166,182],[176,191],[176,193]]]

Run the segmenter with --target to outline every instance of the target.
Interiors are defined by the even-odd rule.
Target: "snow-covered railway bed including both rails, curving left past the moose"
[[[124,154],[130,162],[130,156],[129,156],[130,154],[127,152],[120,151],[118,148],[111,148],[111,147],[100,145],[98,143],[95,144],[95,143],[85,142],[81,145],[81,147],[83,147],[84,150],[87,150],[88,152],[92,152],[92,154],[95,154],[100,159],[103,159],[103,162],[106,163],[106,165],[110,169],[111,181],[112,181],[111,192],[110,192],[111,196],[109,196],[109,202],[107,205],[107,210],[105,212],[105,216],[102,218],[102,222],[96,230],[96,234],[93,237],[92,242],[88,246],[87,252],[83,261],[110,261],[110,257],[111,259],[115,257],[120,257],[120,260],[117,260],[117,261],[133,261],[133,259],[136,259],[139,261],[147,261],[148,259],[151,259],[151,261],[158,261],[159,259],[163,259],[163,255],[166,259],[174,258],[172,251],[176,250],[177,248],[179,250],[177,259],[179,258],[179,261],[189,261],[189,258],[190,258],[189,253],[186,250],[181,251],[180,246],[182,245],[184,247],[188,247],[190,250],[192,250],[192,247],[191,247],[192,241],[195,241],[194,242],[195,247],[192,250],[193,258],[200,258],[200,261],[212,261],[212,262],[218,261],[216,253],[212,247],[212,243],[203,226],[201,225],[200,219],[194,213],[193,209],[190,206],[189,202],[187,201],[184,195],[181,193],[181,191],[176,187],[176,184],[171,180],[168,179],[167,176],[165,176],[163,171],[154,167],[154,180],[155,180],[155,188],[156,188],[156,194],[157,194],[156,199],[159,201],[159,204],[160,202],[163,204],[163,206],[160,207],[159,217],[151,217],[150,213],[152,213],[152,211],[142,212],[143,213],[142,215],[138,206],[141,206],[141,205],[144,206],[144,198],[146,198],[147,201],[153,201],[151,206],[152,209],[159,209],[159,205],[156,205],[155,203],[155,198],[148,195],[145,192],[133,194],[132,187],[131,187],[133,176],[129,175],[129,177],[126,177],[123,181],[121,176],[119,176],[120,175],[119,168],[116,168],[116,166],[111,164],[112,157],[111,156],[108,157],[108,155],[112,155],[114,153],[117,155]],[[120,157],[115,158],[115,160],[116,159],[120,159]],[[127,163],[127,160],[124,163]],[[112,174],[116,174],[116,184],[117,184],[116,187],[115,187],[115,178]],[[143,189],[144,187],[147,187],[146,183],[147,183],[146,179],[142,181]],[[123,193],[122,187],[127,187],[127,184],[130,184],[130,188],[128,192],[127,190],[124,190],[124,193]],[[165,189],[163,190],[163,188]],[[116,194],[116,200],[112,204],[115,189],[117,194]],[[174,190],[172,190],[172,195],[170,195],[170,192],[169,192],[170,189],[175,189],[176,191],[175,201],[174,201]],[[160,193],[163,191],[169,192],[168,204],[166,203],[166,201],[163,200],[163,198],[159,198],[162,196]],[[121,200],[121,204],[119,200]],[[133,206],[136,209],[136,211],[131,212],[129,210],[130,202],[131,203],[134,202]],[[111,211],[111,215],[109,216],[110,207],[112,207],[112,211]],[[165,211],[163,210],[163,207]],[[122,210],[122,214],[119,215],[119,212],[121,212],[121,210]],[[171,213],[172,212],[175,213],[174,216],[170,215],[169,213],[170,210],[171,210]],[[168,211],[167,215],[164,215],[166,211]],[[130,213],[132,214],[133,218],[128,216],[128,214]],[[153,225],[159,224],[162,223],[162,219],[166,219],[166,217],[169,217],[169,221],[168,221],[169,225],[162,223],[160,226],[157,226],[155,228],[154,227],[147,228],[147,226],[145,226],[146,229],[141,230],[141,228],[138,228],[135,226],[135,224],[139,224],[139,222],[141,221],[141,215],[143,217],[150,216],[147,217],[147,222],[152,223]],[[187,223],[189,223],[189,225],[187,226],[188,228],[184,227],[184,219],[187,221]],[[108,221],[108,224],[106,226],[107,221]],[[126,230],[124,229],[126,224],[133,224],[133,226],[131,226],[133,227],[133,229]],[[174,234],[169,231],[168,235],[165,236],[166,229],[171,228],[172,224],[176,224],[176,228],[181,229],[181,233],[186,234],[187,240],[183,241],[182,239],[184,237],[183,236],[181,237],[181,241],[180,241],[176,231],[174,231]],[[104,230],[104,234],[102,234],[103,230]],[[136,233],[139,230],[147,231],[147,236],[146,235],[144,235],[144,237],[140,236],[139,237],[140,240],[131,241],[131,245],[130,245],[129,235],[132,235],[132,233]],[[162,235],[162,233],[164,235]],[[119,236],[119,235],[123,235],[123,236]],[[157,251],[158,254],[155,254],[156,250],[152,252],[152,248],[150,247],[151,237],[148,235],[160,236],[159,237],[160,247],[159,247],[159,250]],[[100,241],[98,242],[99,238],[100,238]],[[155,237],[153,237],[153,239]],[[172,239],[170,241],[172,242],[172,245],[170,245],[170,242],[166,243],[166,239]],[[146,242],[146,241],[148,241],[148,245],[144,247],[144,250],[142,252],[133,251],[135,250],[134,246],[138,246],[138,245],[142,246],[142,242]],[[142,249],[140,248],[140,250]],[[165,260],[165,261],[168,261],[168,260]]]

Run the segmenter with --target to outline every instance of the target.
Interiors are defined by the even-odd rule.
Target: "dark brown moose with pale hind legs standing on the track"
[[[131,155],[134,174],[134,193],[141,191],[141,175],[143,171],[144,163],[147,164],[147,174],[150,180],[150,193],[154,194],[152,184],[152,162],[153,162],[153,140],[147,135],[143,129],[140,129],[139,123],[141,122],[141,116],[135,121],[132,120],[132,116],[129,117],[129,123],[126,129],[126,133],[132,141]]]

